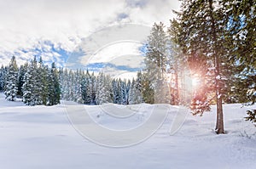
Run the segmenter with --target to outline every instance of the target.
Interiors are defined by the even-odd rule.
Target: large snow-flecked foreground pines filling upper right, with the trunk
[[[216,128],[222,123],[222,100],[225,103],[253,103],[255,100],[254,94],[248,94],[255,91],[256,86],[255,8],[256,2],[248,0],[183,0],[181,12],[176,12],[177,20],[172,20],[172,40],[188,61],[197,60],[196,57],[206,61],[203,65],[196,61],[193,66],[196,69],[192,70],[203,70],[200,74],[204,86],[208,87],[209,82],[214,84],[206,91],[216,92]],[[208,68],[212,67],[213,78],[206,76]]]

